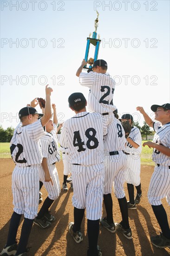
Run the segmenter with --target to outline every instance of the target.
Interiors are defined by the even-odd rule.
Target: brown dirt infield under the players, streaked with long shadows
[[[63,162],[56,164],[60,185],[63,181]],[[11,159],[0,160],[0,251],[7,241],[7,233],[9,228],[10,217],[13,213],[11,175],[14,163]],[[100,226],[100,234],[98,244],[102,249],[103,256],[167,256],[170,255],[170,249],[157,249],[150,243],[150,236],[159,233],[160,228],[153,214],[150,204],[147,200],[147,191],[149,187],[150,177],[153,172],[153,166],[141,167],[141,184],[143,197],[137,210],[129,210],[130,226],[132,229],[132,240],[126,239],[122,234],[110,233]],[[82,222],[83,241],[76,244],[68,232],[68,223],[73,221],[72,207],[72,190],[68,184],[68,192],[61,192],[58,200],[56,200],[51,208],[52,215],[56,217],[56,221],[52,223],[52,227],[46,230],[40,229],[33,225],[28,247],[31,247],[29,256],[86,256],[88,247],[87,238],[87,222],[86,218]],[[42,188],[43,199],[46,198],[46,189]],[[125,186],[127,195],[127,187]],[[121,221],[118,200],[112,194],[113,198],[113,218],[115,222]],[[127,196],[128,199],[128,196]],[[170,216],[170,209],[165,199],[163,206]],[[39,208],[41,205],[39,205]],[[103,210],[105,216],[105,208]],[[22,219],[23,220],[23,219]],[[20,229],[18,238],[20,238]]]

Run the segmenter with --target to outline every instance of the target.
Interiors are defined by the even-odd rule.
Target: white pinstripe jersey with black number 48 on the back
[[[72,164],[98,164],[104,161],[103,135],[101,115],[80,112],[64,122],[60,145],[69,148],[69,159]]]

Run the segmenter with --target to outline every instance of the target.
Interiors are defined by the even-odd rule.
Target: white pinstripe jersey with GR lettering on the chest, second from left
[[[46,135],[41,138],[41,151],[44,158],[47,158],[47,164],[59,162],[58,139],[56,135],[56,126],[53,124],[54,130],[51,133],[46,132]]]

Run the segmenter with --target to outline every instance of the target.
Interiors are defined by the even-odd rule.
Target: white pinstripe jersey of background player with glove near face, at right
[[[129,142],[127,142],[125,152],[138,155],[140,157],[140,153],[142,151],[142,136],[140,130],[136,126],[132,126],[129,138],[137,143],[139,147],[134,148]]]

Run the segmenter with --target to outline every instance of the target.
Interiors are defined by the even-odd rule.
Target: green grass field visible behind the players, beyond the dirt
[[[144,141],[142,141],[142,144]],[[0,158],[11,158],[10,150],[9,150],[9,142],[0,142]],[[154,162],[151,159],[152,155],[152,148],[149,148],[148,146],[142,147],[142,153],[141,153],[141,164],[149,164],[149,165],[155,165]]]

